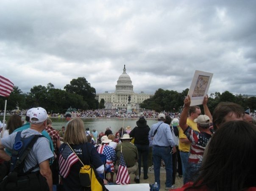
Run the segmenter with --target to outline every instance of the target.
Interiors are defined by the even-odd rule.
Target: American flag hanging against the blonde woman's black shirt
[[[60,169],[60,175],[64,178],[68,176],[70,173],[71,166],[76,163],[79,159],[73,153],[73,151],[70,149],[68,145],[66,145],[62,150],[61,154],[59,156],[59,169]]]

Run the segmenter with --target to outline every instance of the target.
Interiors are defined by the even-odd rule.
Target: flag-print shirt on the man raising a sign
[[[211,139],[211,134],[193,130],[191,127],[186,128],[184,134],[191,142],[189,162],[202,162],[203,152],[207,143]]]

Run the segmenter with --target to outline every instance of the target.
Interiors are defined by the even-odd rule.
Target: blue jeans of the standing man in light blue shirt
[[[171,154],[170,147],[160,147],[153,145],[153,163],[154,163],[154,174],[155,174],[155,182],[160,186],[160,167],[161,167],[161,159],[163,159],[165,163],[165,171],[166,171],[166,187],[171,187],[173,185],[173,159]]]

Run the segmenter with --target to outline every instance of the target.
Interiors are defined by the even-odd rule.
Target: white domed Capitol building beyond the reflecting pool
[[[129,96],[131,98],[131,109],[139,109],[139,104],[151,98],[153,95],[144,92],[134,93],[134,86],[131,83],[130,76],[126,73],[124,65],[123,73],[117,80],[116,90],[113,93],[109,93],[108,91],[97,93],[96,99],[99,102],[101,99],[104,99],[105,109],[126,109]]]

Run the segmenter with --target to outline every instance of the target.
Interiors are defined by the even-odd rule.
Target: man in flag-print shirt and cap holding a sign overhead
[[[203,100],[203,104],[206,105],[208,98],[205,97]],[[184,99],[184,108],[180,117],[180,127],[184,131],[184,134],[191,142],[190,152],[189,152],[189,160],[186,167],[184,184],[189,181],[194,181],[198,177],[198,169],[200,168],[203,160],[203,152],[204,149],[211,139],[211,135],[213,134],[210,131],[210,122],[211,122],[211,114],[208,115],[199,115],[194,122],[197,123],[197,128],[199,131],[193,130],[190,126],[186,124],[186,116],[189,111],[191,100],[188,95]],[[207,105],[205,106],[207,107]],[[208,108],[208,107],[207,107]],[[206,109],[205,109],[206,111]]]

